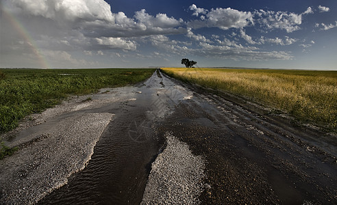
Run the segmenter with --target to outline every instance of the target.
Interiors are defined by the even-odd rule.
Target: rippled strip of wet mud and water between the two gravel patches
[[[175,84],[166,85],[171,89]],[[157,127],[187,94],[166,89],[159,70],[144,83],[116,90],[129,92],[129,98],[97,108],[115,117],[97,142],[90,163],[38,204],[140,204],[151,163],[164,148],[164,135]]]

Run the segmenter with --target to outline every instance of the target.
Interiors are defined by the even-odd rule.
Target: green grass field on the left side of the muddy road
[[[59,104],[69,95],[97,92],[103,87],[134,84],[155,69],[0,69],[0,133],[19,120]]]

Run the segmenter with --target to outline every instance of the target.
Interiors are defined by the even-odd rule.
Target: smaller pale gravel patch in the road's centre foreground
[[[152,163],[141,204],[200,204],[205,161],[166,133],[166,148]]]

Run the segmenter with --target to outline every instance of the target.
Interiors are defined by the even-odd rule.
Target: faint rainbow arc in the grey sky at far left
[[[10,24],[14,27],[16,31],[18,31],[18,33],[27,42],[32,52],[36,55],[40,68],[50,68],[49,64],[47,63],[47,60],[39,52],[38,46],[36,46],[33,38],[29,35],[27,29],[25,29],[25,27],[18,21],[18,19],[14,15],[10,14],[10,12],[7,12],[5,9],[3,9],[2,11],[3,16],[5,18],[8,18]]]

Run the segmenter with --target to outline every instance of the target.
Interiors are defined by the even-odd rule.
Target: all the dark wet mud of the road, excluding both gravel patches
[[[167,133],[205,163],[202,193],[187,204],[337,204],[337,142],[245,100],[216,96],[157,70],[143,83],[102,90],[85,103],[61,112],[58,120],[73,113],[105,113],[112,120],[86,167],[38,204],[151,204],[151,197],[165,204],[168,198],[156,196],[160,191],[147,182],[156,178],[151,165],[157,167],[153,173],[166,178],[155,159],[166,148]],[[53,120],[46,118],[41,129],[50,128]],[[16,143],[25,141],[27,148],[34,148],[25,133],[17,136]],[[160,180],[152,183],[164,186]],[[178,187],[165,195],[174,199]]]

